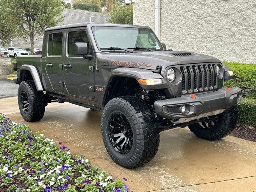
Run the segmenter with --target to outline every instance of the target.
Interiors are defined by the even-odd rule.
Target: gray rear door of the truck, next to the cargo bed
[[[45,58],[44,78],[49,79],[53,92],[64,92],[63,61],[64,61],[65,30],[51,32],[48,35],[47,55]],[[48,86],[48,87],[49,87]],[[51,89],[48,89],[51,90]]]

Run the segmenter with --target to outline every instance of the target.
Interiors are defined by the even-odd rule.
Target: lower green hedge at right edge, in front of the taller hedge
[[[242,98],[238,104],[238,122],[256,126],[256,99]]]

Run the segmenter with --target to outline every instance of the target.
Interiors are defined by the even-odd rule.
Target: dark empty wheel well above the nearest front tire
[[[140,97],[141,94],[142,88],[136,79],[130,77],[114,76],[107,86],[103,105],[105,106],[112,98],[120,96]]]

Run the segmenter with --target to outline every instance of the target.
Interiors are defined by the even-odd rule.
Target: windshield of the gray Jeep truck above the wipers
[[[162,45],[151,29],[132,27],[94,26],[94,39],[98,48],[148,48],[163,50]],[[143,50],[144,51],[144,50]]]

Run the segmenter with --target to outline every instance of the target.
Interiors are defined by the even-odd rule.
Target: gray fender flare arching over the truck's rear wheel
[[[37,70],[37,68],[34,66],[34,65],[22,65],[20,66],[20,77],[21,77],[21,74],[23,71],[29,71],[33,80],[34,80],[34,83],[36,85],[36,90],[38,91],[43,91],[44,90],[44,87],[42,85],[42,82],[41,82],[41,78],[40,78],[40,75],[39,75],[39,72]],[[22,82],[23,80],[22,79],[19,79],[19,82]]]

